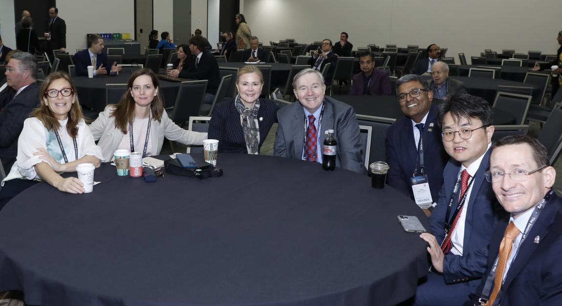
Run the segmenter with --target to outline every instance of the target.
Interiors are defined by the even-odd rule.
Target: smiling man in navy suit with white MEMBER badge
[[[405,116],[387,130],[386,155],[390,167],[387,184],[415,199],[410,179],[425,174],[432,200],[416,203],[422,208],[428,208],[439,198],[439,191],[443,186],[443,169],[448,160],[441,142],[436,107],[432,106],[433,92],[423,78],[407,74],[397,80],[396,93]],[[423,154],[423,173],[420,154]]]

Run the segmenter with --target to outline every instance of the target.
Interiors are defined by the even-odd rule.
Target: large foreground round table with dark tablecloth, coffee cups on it
[[[0,212],[0,291],[58,306],[395,305],[427,273],[427,243],[397,215],[428,220],[401,192],[296,159],[217,165],[224,176],[146,183],[105,163],[90,194],[29,188]]]

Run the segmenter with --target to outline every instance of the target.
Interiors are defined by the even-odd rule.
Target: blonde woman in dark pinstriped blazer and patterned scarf
[[[263,87],[260,68],[238,70],[238,95],[215,106],[209,125],[209,138],[219,141],[219,152],[259,154],[278,109],[273,100],[260,98]]]

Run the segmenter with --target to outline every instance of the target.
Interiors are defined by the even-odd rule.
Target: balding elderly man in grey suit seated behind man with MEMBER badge
[[[449,100],[452,96],[466,93],[464,83],[449,78],[449,65],[446,62],[436,62],[431,66],[432,80],[429,89],[433,91],[433,98]]]

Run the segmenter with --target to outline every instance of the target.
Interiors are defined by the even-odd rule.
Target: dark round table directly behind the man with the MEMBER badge
[[[333,96],[334,99],[351,105],[357,115],[400,119],[404,116],[395,96]],[[433,100],[436,103],[437,100]],[[505,110],[494,110],[493,124],[515,124],[515,116]]]

